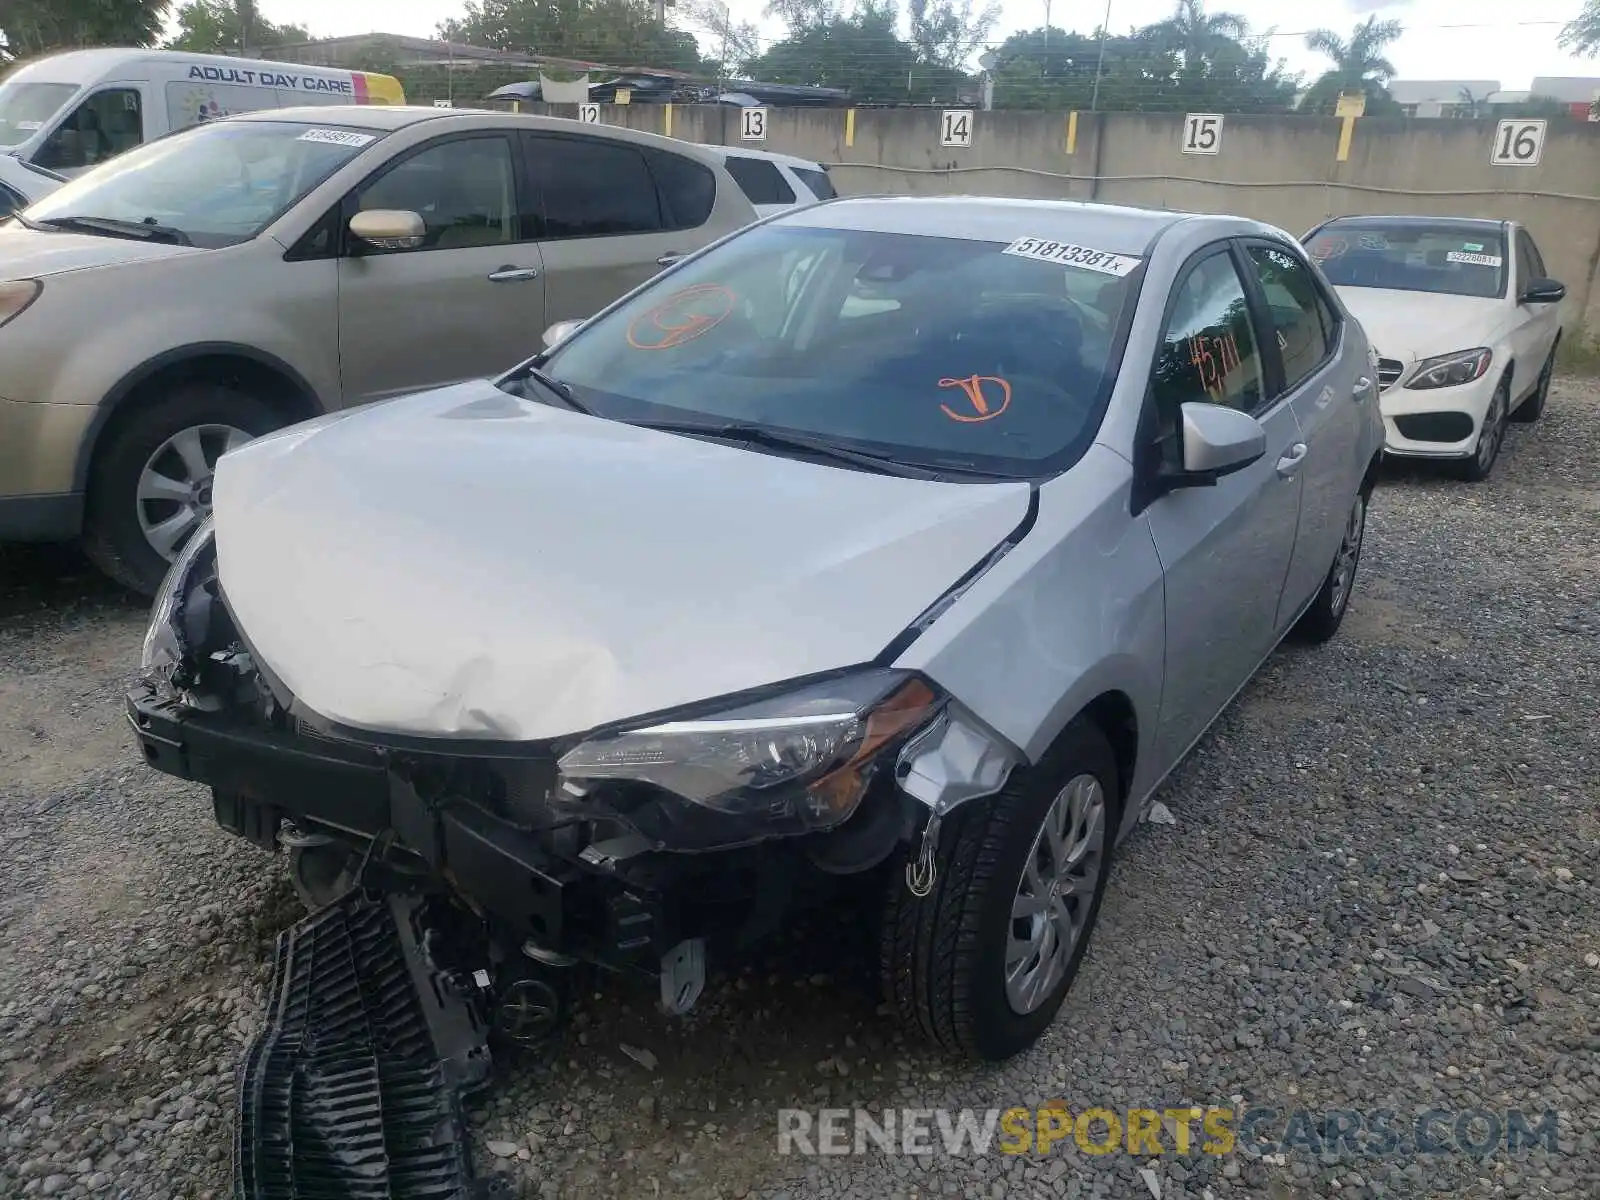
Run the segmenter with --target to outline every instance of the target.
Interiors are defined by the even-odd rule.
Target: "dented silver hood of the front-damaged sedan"
[[[330,720],[531,741],[875,658],[1026,483],[797,462],[518,400],[370,405],[227,454],[218,570]]]

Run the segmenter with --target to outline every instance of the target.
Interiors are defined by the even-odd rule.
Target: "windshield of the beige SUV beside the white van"
[[[176,230],[197,246],[248,242],[378,134],[304,122],[218,122],[118,155],[27,210],[30,224],[78,221]]]

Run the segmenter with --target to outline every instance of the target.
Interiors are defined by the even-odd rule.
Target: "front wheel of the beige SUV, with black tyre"
[[[154,595],[211,514],[216,461],[280,424],[254,397],[219,384],[189,384],[131,413],[94,456],[83,520],[88,557],[125,587]]]

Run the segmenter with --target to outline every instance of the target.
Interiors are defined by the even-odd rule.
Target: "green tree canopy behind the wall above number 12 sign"
[[[467,0],[440,37],[613,67],[702,69],[694,35],[656,21],[651,0]]]

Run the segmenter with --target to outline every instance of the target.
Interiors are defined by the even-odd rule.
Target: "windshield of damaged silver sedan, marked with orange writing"
[[[1005,251],[762,226],[584,328],[546,371],[622,421],[754,424],[907,466],[1050,474],[1099,427],[1139,264],[1090,256],[1117,275]]]

